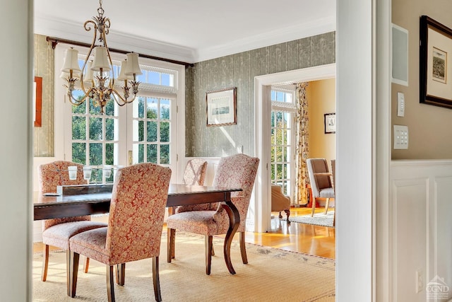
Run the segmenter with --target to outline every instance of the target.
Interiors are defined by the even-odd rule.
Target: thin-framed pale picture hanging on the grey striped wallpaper
[[[208,127],[237,124],[236,89],[225,88],[206,93]]]

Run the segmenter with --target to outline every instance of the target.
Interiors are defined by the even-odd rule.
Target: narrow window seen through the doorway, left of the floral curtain
[[[272,87],[271,93],[271,182],[283,194],[295,193],[295,88],[290,91]],[[293,198],[292,198],[293,200]]]

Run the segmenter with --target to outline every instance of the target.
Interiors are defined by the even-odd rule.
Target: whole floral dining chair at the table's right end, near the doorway
[[[240,224],[237,232],[240,233],[240,251],[242,262],[248,263],[245,250],[245,222],[248,212],[249,200],[256,179],[258,158],[236,154],[221,158],[213,180],[213,186],[240,187],[241,192],[232,192],[231,201],[237,207],[240,215]],[[190,233],[198,233],[206,236],[206,274],[210,274],[212,260],[212,240],[214,235],[227,233],[229,228],[229,216],[220,203],[210,204],[210,210],[181,211],[169,216],[168,228],[168,253],[167,262],[174,258],[174,240],[176,230]]]

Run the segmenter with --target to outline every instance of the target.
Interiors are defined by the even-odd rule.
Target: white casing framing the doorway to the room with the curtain
[[[316,81],[334,78],[336,74],[335,64],[326,64],[294,71],[284,71],[277,74],[267,74],[254,78],[254,104],[255,118],[255,154],[261,159],[254,187],[254,208],[256,232],[266,232],[270,229],[270,177],[268,165],[270,165],[270,153],[268,151],[270,137],[270,120],[264,118],[269,116],[270,101],[268,100],[268,89],[272,85],[280,85],[295,82]]]

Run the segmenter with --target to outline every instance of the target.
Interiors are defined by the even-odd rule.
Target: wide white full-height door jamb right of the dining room
[[[338,2],[335,298],[372,301],[377,1]]]

